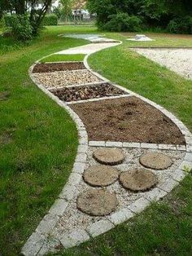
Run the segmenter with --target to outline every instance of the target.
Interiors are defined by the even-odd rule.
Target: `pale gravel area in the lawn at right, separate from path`
[[[192,79],[192,49],[132,49],[182,77]]]

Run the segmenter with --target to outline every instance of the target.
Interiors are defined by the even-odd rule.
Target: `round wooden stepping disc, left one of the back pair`
[[[104,165],[116,166],[124,161],[124,154],[120,149],[101,148],[94,152],[94,159]]]

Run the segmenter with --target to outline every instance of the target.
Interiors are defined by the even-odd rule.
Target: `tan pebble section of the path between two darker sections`
[[[96,77],[86,69],[51,73],[33,73],[33,77],[46,88],[59,88],[62,86],[77,86],[101,82],[100,78]]]

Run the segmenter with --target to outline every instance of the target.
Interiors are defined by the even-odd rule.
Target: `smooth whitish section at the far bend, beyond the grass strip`
[[[99,43],[90,43],[85,46],[78,46],[74,48],[69,48],[68,50],[59,51],[55,54],[57,55],[75,55],[75,54],[91,54],[96,51],[101,51],[103,49],[109,48],[111,46],[118,46],[120,42],[99,42]]]

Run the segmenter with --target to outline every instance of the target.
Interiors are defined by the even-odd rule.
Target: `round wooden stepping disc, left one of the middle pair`
[[[111,185],[118,177],[119,171],[111,166],[91,166],[83,174],[85,182],[95,187]]]

